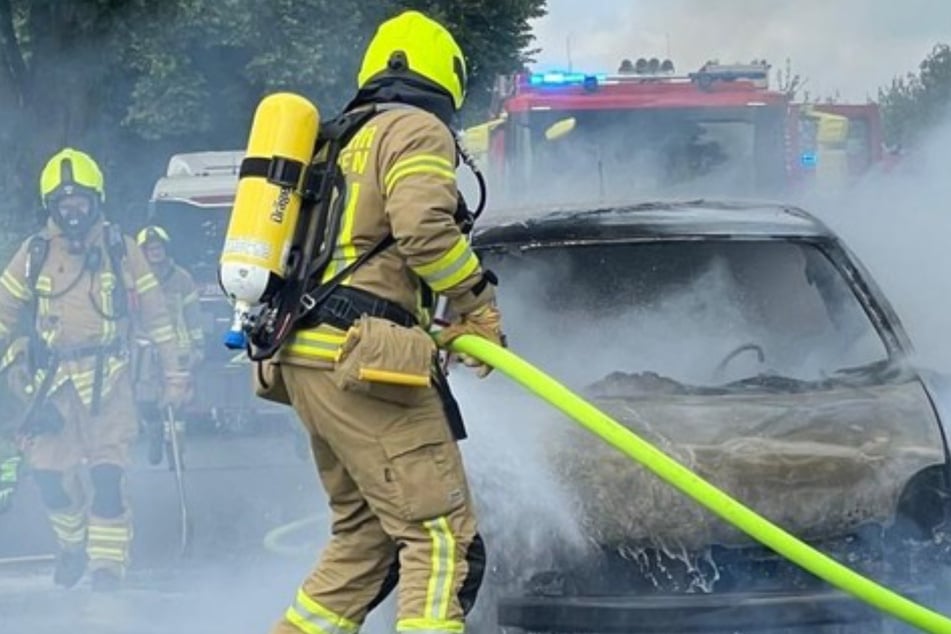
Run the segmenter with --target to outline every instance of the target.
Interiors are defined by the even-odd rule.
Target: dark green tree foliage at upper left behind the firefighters
[[[469,61],[470,99],[532,51],[545,0],[0,0],[0,219],[38,203],[43,161],[64,145],[106,171],[113,213],[140,221],[175,152],[244,143],[266,93],[293,90],[324,112],[355,89],[379,22],[415,8],[441,19]],[[135,215],[138,214],[138,215]]]

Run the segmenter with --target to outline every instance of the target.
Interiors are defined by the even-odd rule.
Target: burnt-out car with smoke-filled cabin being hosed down
[[[936,605],[951,393],[914,367],[895,311],[823,223],[778,204],[660,202],[496,222],[474,244],[502,280],[516,353],[793,534]],[[544,452],[593,550],[553,543],[547,569],[497,590],[502,628],[888,622],[560,422]],[[503,558],[496,584],[505,572]]]

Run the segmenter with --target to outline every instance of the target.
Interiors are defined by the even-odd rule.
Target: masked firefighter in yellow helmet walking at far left
[[[188,372],[158,281],[135,242],[103,217],[96,162],[61,150],[43,169],[40,192],[46,226],[0,276],[0,335],[10,342],[16,324],[26,325],[8,350],[21,369],[9,382],[31,402],[18,432],[60,547],[53,580],[74,586],[88,567],[93,589],[108,591],[121,584],[132,541],[124,494],[137,433],[130,322],[160,350],[165,403],[188,397]]]

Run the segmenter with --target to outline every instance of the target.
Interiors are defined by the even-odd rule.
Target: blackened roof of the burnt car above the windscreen
[[[770,202],[689,200],[548,208],[508,212],[490,222],[476,230],[476,245],[680,235],[835,238],[808,212]]]

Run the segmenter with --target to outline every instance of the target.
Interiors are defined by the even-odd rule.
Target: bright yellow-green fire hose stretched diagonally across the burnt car
[[[451,348],[508,375],[723,520],[817,577],[921,630],[951,634],[951,619],[892,592],[801,542],[508,350],[474,336],[459,337]]]

